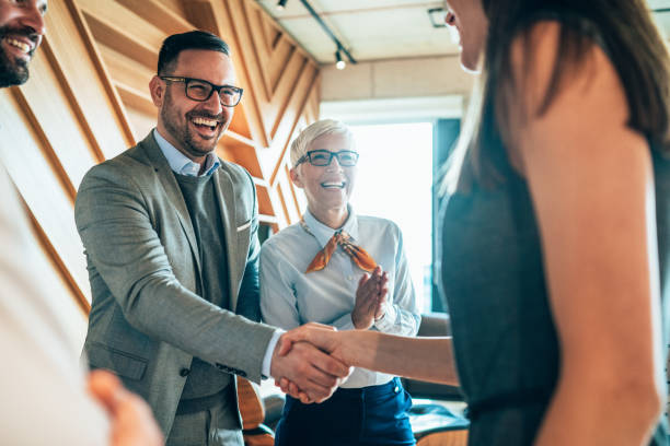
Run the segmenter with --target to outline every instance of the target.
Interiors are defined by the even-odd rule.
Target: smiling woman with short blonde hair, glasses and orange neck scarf
[[[400,228],[349,204],[358,174],[350,130],[331,119],[312,124],[291,144],[291,163],[308,209],[261,250],[264,321],[416,334],[419,306]],[[287,397],[276,446],[414,445],[412,399],[397,377],[355,368],[331,399],[308,401]]]

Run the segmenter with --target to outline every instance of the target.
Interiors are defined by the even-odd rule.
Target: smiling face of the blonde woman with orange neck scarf
[[[331,152],[354,150],[351,139],[344,133],[323,134],[307,148],[308,152],[320,149]],[[356,174],[356,166],[343,167],[336,157],[327,166],[313,166],[305,161],[291,169],[293,183],[304,190],[310,212],[317,219],[333,211],[346,212]]]

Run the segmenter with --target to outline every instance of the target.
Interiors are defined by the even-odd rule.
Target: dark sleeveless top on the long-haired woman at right
[[[668,302],[670,159],[651,151],[661,293]],[[533,443],[561,362],[530,191],[509,164],[504,167],[503,184],[475,184],[442,202],[441,289],[469,404],[469,444],[477,446]],[[658,445],[667,444],[662,431]]]

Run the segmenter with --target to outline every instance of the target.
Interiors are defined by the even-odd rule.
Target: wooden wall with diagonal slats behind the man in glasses
[[[148,83],[160,44],[195,28],[228,42],[244,87],[219,155],[252,174],[261,221],[275,231],[304,207],[288,176],[288,144],[317,118],[319,67],[253,0],[50,2],[31,80],[0,90],[0,160],[44,253],[36,280],[71,321],[73,348],[81,348],[91,300],[74,227],[77,188],[91,166],[155,125]]]

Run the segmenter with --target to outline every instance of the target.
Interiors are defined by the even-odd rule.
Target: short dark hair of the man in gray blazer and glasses
[[[185,49],[208,49],[223,52],[230,56],[230,48],[219,36],[205,31],[189,31],[182,34],[173,34],[163,40],[159,52],[158,74],[172,74],[180,52]]]

